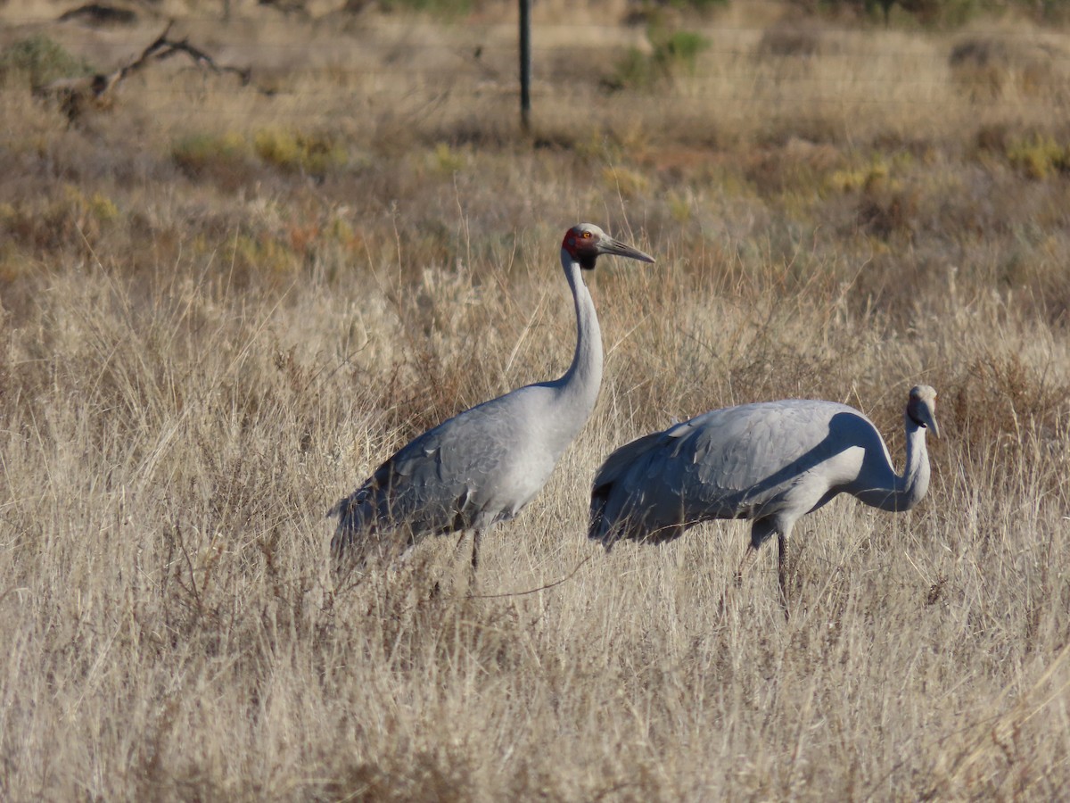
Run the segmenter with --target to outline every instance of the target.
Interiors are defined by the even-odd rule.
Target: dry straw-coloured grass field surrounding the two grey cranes
[[[537,4],[524,134],[513,3],[232,5],[0,7],[0,798],[1070,788],[1070,32],[736,2],[661,21],[688,63],[623,2]],[[68,119],[12,66],[114,70],[160,9],[250,82],[179,54]],[[565,369],[581,221],[657,263],[590,277],[606,380],[549,485],[474,587],[454,539],[336,587],[339,497]],[[901,469],[919,382],[929,496],[805,518],[789,621],[775,548],[733,586],[745,522],[585,539],[627,439],[820,397]]]

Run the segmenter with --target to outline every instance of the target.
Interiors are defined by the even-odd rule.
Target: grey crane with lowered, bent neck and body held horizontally
[[[896,474],[873,423],[835,402],[763,402],[698,415],[613,452],[591,491],[588,536],[672,541],[714,518],[747,518],[750,546],[736,579],[773,533],[786,605],[788,542],[795,522],[838,494],[884,511],[908,511],[929,489],[926,433],[939,436],[936,391],[911,390],[906,470]]]

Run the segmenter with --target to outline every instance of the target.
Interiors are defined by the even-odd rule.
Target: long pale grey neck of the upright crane
[[[565,269],[565,277],[576,302],[576,353],[568,370],[552,385],[557,389],[562,414],[578,419],[579,428],[594,409],[601,385],[601,329],[598,327],[594,301],[583,284],[579,262],[562,248],[561,264]]]

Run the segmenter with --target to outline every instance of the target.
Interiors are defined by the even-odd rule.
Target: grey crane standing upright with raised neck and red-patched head
[[[561,263],[576,303],[576,352],[551,382],[518,388],[428,429],[402,446],[328,515],[339,516],[331,551],[409,547],[428,534],[472,530],[472,570],[484,532],[513,518],[550,478],[591,415],[602,374],[601,331],[583,270],[602,254],[653,262],[641,251],[581,223],[565,232]],[[361,540],[360,544],[355,544]],[[460,541],[458,541],[460,545]]]

